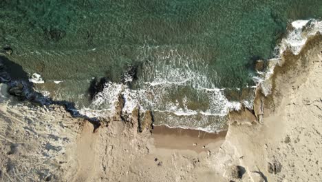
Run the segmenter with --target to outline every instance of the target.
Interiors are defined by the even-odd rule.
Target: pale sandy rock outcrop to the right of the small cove
[[[241,181],[320,180],[321,48],[318,33],[299,54],[284,52],[270,77],[270,94],[259,87],[253,110],[230,112],[223,156],[217,158],[224,161],[227,181],[240,181],[234,165],[246,168]],[[242,122],[244,117],[249,119]]]

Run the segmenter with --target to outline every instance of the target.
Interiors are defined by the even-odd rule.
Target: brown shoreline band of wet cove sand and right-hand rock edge
[[[281,92],[281,90],[277,90],[277,87],[283,88],[283,85],[277,85],[277,82],[283,82],[278,79],[283,77],[283,75],[290,74],[289,72],[297,72],[298,70],[301,70],[301,68],[296,68],[296,66],[298,66],[296,60],[301,59],[305,52],[317,47],[320,41],[321,34],[316,33],[307,38],[298,54],[294,54],[291,50],[284,51],[283,54],[281,54],[281,58],[279,58],[281,59],[281,63],[274,65],[272,68],[272,74],[267,80],[265,80],[269,81],[272,86],[270,94],[264,95],[264,85],[262,85],[264,83],[257,85],[255,90],[255,99],[253,101],[253,109],[250,110],[246,107],[241,107],[239,110],[230,110],[230,112],[228,112],[228,122],[230,122],[228,124],[228,130],[232,125],[236,124],[262,125],[264,124],[264,118],[269,117],[271,114],[275,114],[278,108],[281,107],[281,101],[279,100],[281,99],[279,96],[279,92]],[[307,69],[308,65],[306,65],[306,63],[302,63],[302,65]],[[302,71],[305,72],[309,70]],[[297,73],[296,78],[300,77],[299,75],[300,74]],[[155,125],[153,130],[151,132],[156,148],[193,150],[197,153],[206,151],[207,145],[210,143],[220,143],[215,149],[220,148],[222,143],[226,140],[226,134],[228,132],[228,130],[225,130],[216,134],[198,129],[171,128],[167,125]],[[206,136],[206,138],[200,136]],[[212,142],[211,139],[214,141]]]

